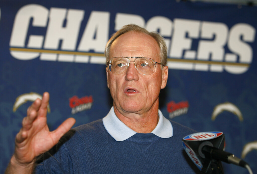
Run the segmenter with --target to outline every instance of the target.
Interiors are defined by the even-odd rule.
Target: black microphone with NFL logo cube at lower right
[[[223,132],[199,132],[185,136],[182,145],[199,170],[203,173],[224,173],[221,161],[241,167],[248,164],[235,155],[225,152]]]

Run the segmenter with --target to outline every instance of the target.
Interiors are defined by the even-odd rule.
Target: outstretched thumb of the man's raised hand
[[[75,124],[76,120],[74,118],[68,118],[63,121],[63,123],[54,131],[52,131],[52,140],[57,143],[60,138],[70,130],[70,128]]]

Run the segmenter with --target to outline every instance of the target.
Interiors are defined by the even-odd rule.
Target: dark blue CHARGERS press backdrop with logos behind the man
[[[1,173],[27,107],[44,91],[50,93],[50,130],[68,117],[78,126],[108,113],[112,99],[104,47],[129,23],[160,32],[166,40],[169,78],[160,94],[164,116],[198,132],[224,132],[226,151],[257,173],[256,6],[1,0],[0,15]],[[232,164],[224,164],[224,171],[248,173]]]

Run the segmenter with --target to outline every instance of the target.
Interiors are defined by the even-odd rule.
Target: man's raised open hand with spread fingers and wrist
[[[50,150],[75,124],[74,118],[68,118],[50,132],[47,126],[48,103],[49,93],[45,92],[42,100],[36,99],[27,109],[27,116],[15,138],[14,155],[5,173],[31,173],[36,157]]]

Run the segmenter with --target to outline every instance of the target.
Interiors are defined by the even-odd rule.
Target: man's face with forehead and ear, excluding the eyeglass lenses
[[[154,38],[144,33],[127,32],[119,36],[111,45],[110,58],[113,57],[149,57],[160,62],[159,46]],[[134,60],[134,58],[129,58]],[[151,75],[139,74],[130,62],[123,74],[107,72],[108,88],[110,89],[114,108],[120,113],[146,113],[159,107],[158,96],[168,79],[168,67],[157,65]]]

